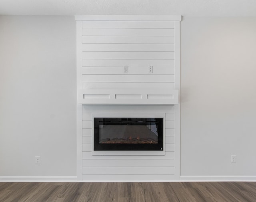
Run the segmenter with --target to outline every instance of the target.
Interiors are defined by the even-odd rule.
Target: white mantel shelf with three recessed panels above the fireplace
[[[87,105],[172,105],[179,103],[178,90],[79,90],[78,103]]]

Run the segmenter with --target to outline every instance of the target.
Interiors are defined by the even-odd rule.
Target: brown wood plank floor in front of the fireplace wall
[[[0,202],[256,202],[256,182],[1,182]]]

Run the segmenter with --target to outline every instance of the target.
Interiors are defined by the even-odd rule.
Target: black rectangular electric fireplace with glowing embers
[[[163,118],[94,118],[94,151],[163,151]]]

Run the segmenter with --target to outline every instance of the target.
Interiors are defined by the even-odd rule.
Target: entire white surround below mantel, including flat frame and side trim
[[[179,179],[178,105],[78,105],[78,176],[83,181],[163,181]],[[78,107],[78,108],[79,108]],[[141,151],[93,151],[93,117],[163,117],[164,155]],[[81,130],[82,129],[82,130]],[[177,135],[178,134],[178,135]],[[108,152],[108,151],[106,151]],[[133,153],[134,152],[134,153]],[[143,151],[142,151],[143,152]],[[145,151],[148,152],[148,151]],[[121,154],[121,155],[120,155]]]

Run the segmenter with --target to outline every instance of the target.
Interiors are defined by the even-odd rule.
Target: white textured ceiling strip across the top
[[[0,0],[0,15],[256,16],[256,0]]]

